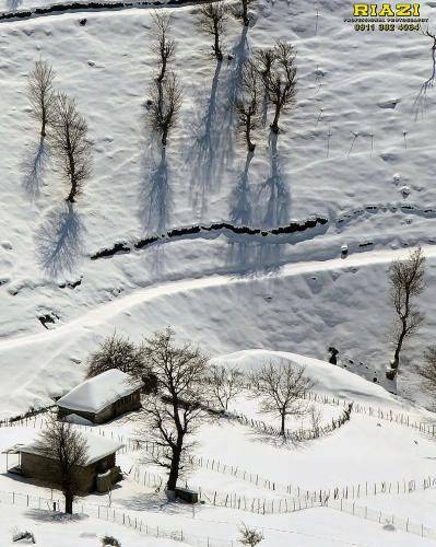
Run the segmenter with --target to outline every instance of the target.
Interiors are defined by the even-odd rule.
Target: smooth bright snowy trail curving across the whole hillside
[[[334,269],[347,269],[358,266],[370,266],[375,264],[387,264],[396,258],[405,258],[411,249],[414,247],[406,247],[396,251],[370,251],[362,254],[351,255],[344,258],[333,258],[329,260],[313,260],[306,263],[290,263],[281,267],[278,277],[292,277],[302,274],[310,274],[314,271],[328,271]],[[436,246],[426,245],[422,247],[427,257],[436,257]],[[101,306],[91,310],[80,317],[70,321],[57,328],[45,330],[28,336],[19,336],[0,341],[0,351],[10,349],[22,345],[31,345],[34,342],[44,342],[62,338],[63,336],[71,337],[73,331],[83,329],[91,329],[96,325],[105,324],[108,318],[113,318],[135,305],[151,303],[153,300],[161,296],[169,296],[184,292],[195,290],[222,287],[222,286],[237,286],[244,283],[251,283],[256,281],[267,280],[270,274],[259,275],[256,278],[236,278],[234,275],[212,275],[204,278],[190,278],[179,281],[168,281],[161,284],[145,287],[135,290],[126,296],[119,296],[114,301],[102,304]]]

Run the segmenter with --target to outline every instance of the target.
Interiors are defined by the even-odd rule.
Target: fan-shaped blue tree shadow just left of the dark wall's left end
[[[72,203],[52,209],[35,237],[38,264],[47,275],[74,270],[83,251],[84,226]]]

